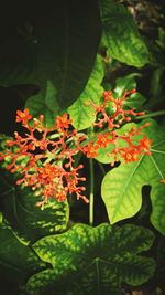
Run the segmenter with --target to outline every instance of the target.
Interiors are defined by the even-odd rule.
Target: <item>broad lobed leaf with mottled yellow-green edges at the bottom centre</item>
[[[131,224],[76,224],[64,234],[43,238],[33,249],[52,268],[29,280],[29,294],[121,295],[122,282],[138,285],[153,275],[154,261],[139,255],[152,243],[150,230]]]

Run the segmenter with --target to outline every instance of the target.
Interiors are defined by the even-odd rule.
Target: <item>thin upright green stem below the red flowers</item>
[[[89,196],[89,225],[94,226],[94,159],[89,159],[90,167],[90,196]]]

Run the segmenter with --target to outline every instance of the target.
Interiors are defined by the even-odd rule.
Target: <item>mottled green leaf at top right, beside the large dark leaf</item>
[[[110,57],[141,67],[148,62],[148,50],[131,13],[113,0],[100,0],[103,41]]]

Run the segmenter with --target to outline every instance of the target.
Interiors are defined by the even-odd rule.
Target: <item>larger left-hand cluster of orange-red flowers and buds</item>
[[[15,139],[8,140],[6,152],[0,154],[0,159],[10,157],[11,164],[7,166],[11,172],[20,172],[23,176],[16,181],[18,185],[32,187],[36,196],[42,197],[37,206],[44,206],[48,198],[65,201],[68,193],[76,193],[77,199],[88,199],[81,193],[85,177],[79,177],[82,165],[74,167],[74,156],[79,151],[79,145],[85,136],[74,129],[70,130],[70,119],[67,114],[57,116],[52,128],[43,126],[44,116],[34,118],[33,125],[29,124],[31,115],[16,112],[16,122],[22,122],[26,128],[25,136],[14,133]],[[12,149],[14,147],[14,150]]]

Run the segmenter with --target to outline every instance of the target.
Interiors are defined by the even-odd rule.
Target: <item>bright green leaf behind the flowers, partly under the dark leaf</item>
[[[68,114],[70,115],[73,125],[77,130],[90,127],[96,119],[95,109],[87,104],[90,99],[92,99],[96,104],[99,103],[103,93],[103,88],[101,87],[103,74],[102,59],[100,55],[97,55],[95,66],[84,92],[68,108]]]

